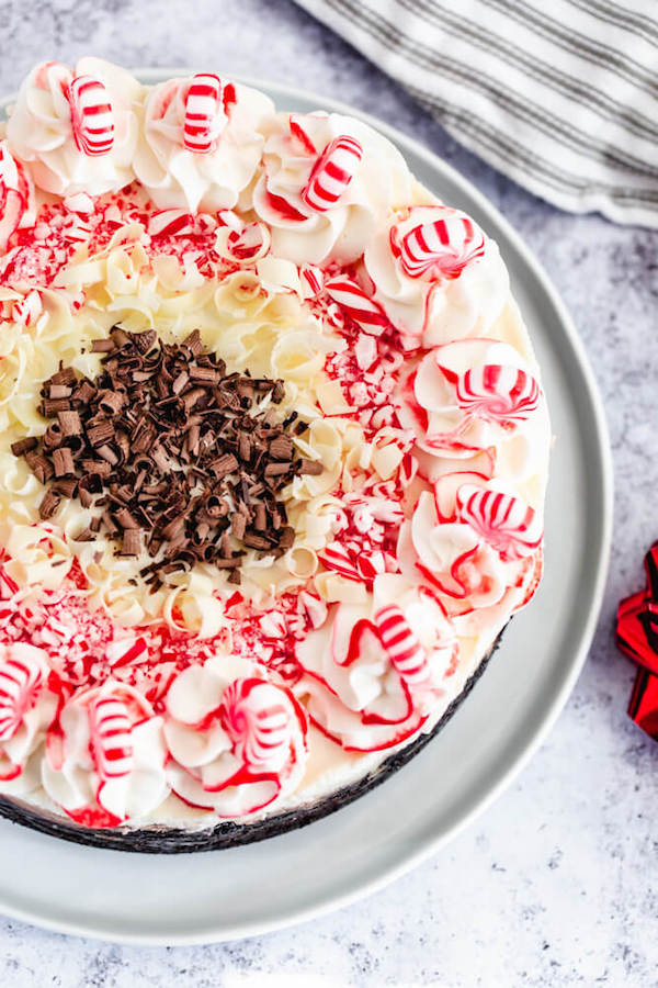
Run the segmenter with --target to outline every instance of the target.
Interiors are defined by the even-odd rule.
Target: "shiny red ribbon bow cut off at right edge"
[[[658,741],[658,541],[645,555],[646,590],[622,600],[617,608],[617,645],[639,666],[628,716]]]

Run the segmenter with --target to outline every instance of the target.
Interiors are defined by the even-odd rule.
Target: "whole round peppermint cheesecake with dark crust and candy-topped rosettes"
[[[0,136],[0,811],[156,851],[308,822],[540,581],[497,245],[366,124],[215,75],[46,63]]]

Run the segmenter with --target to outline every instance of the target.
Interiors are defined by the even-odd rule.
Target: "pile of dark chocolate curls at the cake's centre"
[[[283,381],[227,374],[197,330],[179,346],[115,327],[92,351],[103,353],[100,375],[60,367],[41,392],[45,434],[11,447],[47,485],[42,519],[77,497],[92,513],[77,541],[104,532],[122,555],[146,550],[156,561],[140,572],[154,586],[197,561],[237,584],[247,549],[277,558],[291,548],[280,491],[322,467],[295,450],[307,424],[271,407]]]

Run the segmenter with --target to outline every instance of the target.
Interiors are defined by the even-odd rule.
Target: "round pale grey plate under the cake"
[[[146,82],[184,74],[137,72]],[[245,81],[282,110],[324,106],[368,120],[326,97]],[[589,363],[546,274],[500,213],[426,148],[370,123],[421,182],[498,240],[509,267],[557,437],[542,587],[447,727],[351,806],[263,843],[180,856],[83,847],[0,820],[0,911],[8,916],[104,940],[177,944],[250,936],[344,906],[435,853],[483,812],[546,737],[576,683],[612,525],[610,447]]]

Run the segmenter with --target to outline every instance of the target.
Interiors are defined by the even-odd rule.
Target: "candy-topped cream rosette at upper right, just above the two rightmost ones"
[[[405,336],[433,347],[486,336],[509,297],[497,244],[460,210],[411,206],[388,217],[364,251],[374,299]]]

